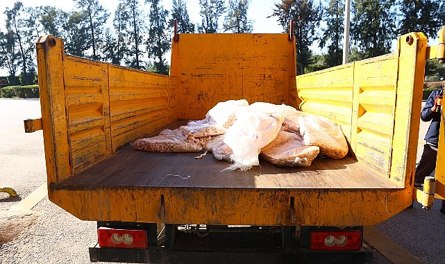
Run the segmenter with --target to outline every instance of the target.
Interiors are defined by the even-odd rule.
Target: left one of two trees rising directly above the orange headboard
[[[226,9],[224,0],[199,0],[201,6],[201,25],[198,26],[200,33],[217,33],[218,19]]]

